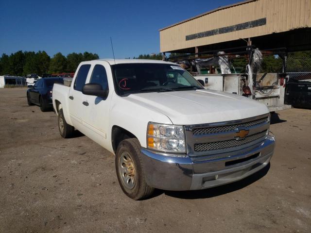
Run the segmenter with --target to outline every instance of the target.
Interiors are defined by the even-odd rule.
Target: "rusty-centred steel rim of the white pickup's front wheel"
[[[119,159],[119,174],[124,186],[133,189],[136,183],[135,164],[131,155],[124,151]]]

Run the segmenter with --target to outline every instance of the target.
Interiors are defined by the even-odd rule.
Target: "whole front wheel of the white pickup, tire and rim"
[[[145,199],[155,190],[145,181],[140,147],[137,138],[125,139],[119,144],[115,157],[121,189],[133,200]]]

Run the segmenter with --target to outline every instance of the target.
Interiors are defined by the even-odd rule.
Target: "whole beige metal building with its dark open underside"
[[[194,53],[247,45],[311,49],[311,0],[245,0],[160,29],[160,51]],[[249,40],[248,40],[249,38]]]

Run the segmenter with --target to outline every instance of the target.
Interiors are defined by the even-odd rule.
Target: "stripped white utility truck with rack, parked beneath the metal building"
[[[285,52],[259,51],[254,46],[230,48],[215,54],[215,51],[200,52],[170,57],[167,60],[188,68],[192,76],[207,89],[225,91],[249,97],[265,104],[270,112],[289,109],[285,103],[285,84],[288,75],[285,71]],[[203,54],[203,55],[202,55]],[[200,55],[195,57],[196,55]],[[283,58],[283,71],[260,73],[263,56],[277,55]],[[232,60],[245,58],[246,72],[235,68]],[[248,61],[247,61],[248,59]]]

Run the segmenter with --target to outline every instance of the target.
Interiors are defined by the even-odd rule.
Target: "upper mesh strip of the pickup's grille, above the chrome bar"
[[[261,124],[267,123],[268,120],[269,120],[268,116],[266,116],[258,120],[253,120],[253,121],[240,123],[240,124],[194,128],[192,129],[192,133],[193,135],[205,135],[205,134],[210,134],[210,133],[230,132],[230,131],[234,131],[237,128],[248,128],[248,127],[253,127],[253,126],[259,126]]]

